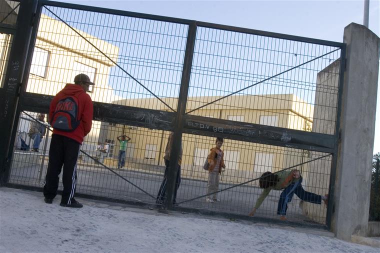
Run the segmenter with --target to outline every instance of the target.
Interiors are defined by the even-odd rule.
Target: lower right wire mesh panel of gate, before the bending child
[[[183,203],[179,201],[180,205],[248,214],[262,192],[256,179],[266,171],[274,173],[297,169],[301,173],[305,190],[318,195],[328,193],[331,166],[331,157],[328,154],[224,139],[221,149],[225,168],[219,174],[217,190],[220,192],[213,194],[214,191],[207,190],[210,186],[209,171],[203,169],[203,163],[210,149],[215,147],[215,138],[185,134],[182,141],[182,181],[178,192],[183,192],[185,200],[182,200]],[[276,217],[280,193],[279,190],[272,190],[257,214]],[[207,201],[207,197],[214,201]],[[293,199],[289,203],[287,216],[298,221],[314,220],[324,223],[325,206],[303,202],[299,197]]]

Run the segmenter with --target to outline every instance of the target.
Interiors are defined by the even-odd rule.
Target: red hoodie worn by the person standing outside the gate
[[[78,120],[80,120],[80,124],[72,132],[53,129],[53,134],[66,136],[81,144],[83,142],[83,137],[91,130],[93,114],[92,100],[91,97],[84,92],[80,85],[67,83],[66,86],[64,86],[64,88],[59,91],[50,102],[50,120],[52,119],[57,102],[66,95],[75,96],[78,100]]]

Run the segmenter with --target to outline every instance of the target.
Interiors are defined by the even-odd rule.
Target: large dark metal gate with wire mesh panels
[[[172,131],[165,208],[246,217],[262,191],[256,178],[293,168],[305,190],[331,198],[345,44],[46,0],[1,4],[9,2],[17,10],[6,14],[20,14],[17,25],[0,24],[1,36],[15,37],[0,41],[2,185],[42,187],[47,118],[38,122],[46,128],[38,152],[28,131],[84,72],[95,82],[94,117],[78,157],[78,194],[155,204]],[[130,140],[121,167],[122,134]],[[216,137],[226,167],[210,203],[202,164]],[[271,191],[255,216],[275,221],[280,193]],[[287,217],[329,227],[331,212],[294,196]]]

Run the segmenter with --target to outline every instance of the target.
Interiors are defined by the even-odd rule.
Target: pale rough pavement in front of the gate
[[[59,198],[1,187],[0,252],[378,252],[325,230]]]

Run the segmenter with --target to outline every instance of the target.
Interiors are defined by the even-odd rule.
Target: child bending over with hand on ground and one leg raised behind
[[[291,201],[294,193],[303,201],[321,204],[323,200],[323,202],[327,205],[327,194],[321,196],[312,192],[305,191],[301,183],[302,177],[300,176],[299,170],[297,169],[287,169],[279,171],[277,173],[272,173],[269,171],[264,172],[258,180],[258,184],[260,188],[263,188],[263,190],[261,192],[261,195],[258,197],[254,208],[248,215],[254,215],[256,209],[261,205],[262,201],[269,194],[271,189],[283,189],[281,195],[279,196],[277,206],[277,214],[280,215],[281,220],[286,220],[285,215],[287,210],[287,203]]]

